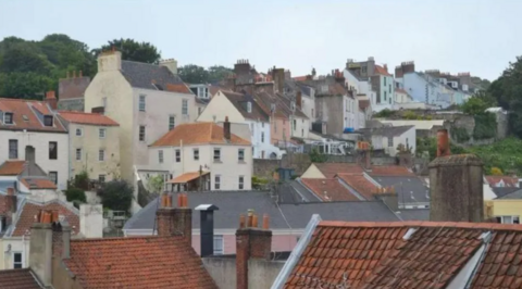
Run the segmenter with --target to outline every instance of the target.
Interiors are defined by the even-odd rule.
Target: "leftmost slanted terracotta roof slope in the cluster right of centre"
[[[301,178],[301,184],[323,201],[361,201],[335,178]]]

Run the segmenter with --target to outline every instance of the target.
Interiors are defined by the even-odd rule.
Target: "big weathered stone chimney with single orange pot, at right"
[[[483,222],[483,162],[474,154],[450,154],[447,129],[437,133],[437,158],[430,168],[430,221]]]

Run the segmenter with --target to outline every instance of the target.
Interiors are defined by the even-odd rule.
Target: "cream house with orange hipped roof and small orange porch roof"
[[[249,140],[231,133],[226,120],[176,126],[149,148],[149,168],[165,172],[167,188],[250,190],[252,149]]]

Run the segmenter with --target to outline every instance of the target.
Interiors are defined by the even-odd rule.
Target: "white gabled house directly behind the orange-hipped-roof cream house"
[[[220,90],[214,95],[198,122],[246,124],[250,128],[253,159],[278,159],[282,152],[271,143],[269,115],[249,95]]]

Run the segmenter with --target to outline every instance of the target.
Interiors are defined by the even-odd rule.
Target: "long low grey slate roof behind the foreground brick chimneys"
[[[275,204],[265,191],[208,191],[189,192],[188,204],[191,209],[200,204],[214,204],[220,210],[214,212],[215,229],[236,229],[239,215],[253,209],[258,215],[270,215],[273,229],[302,229],[313,214],[331,221],[399,221],[383,202],[315,202],[299,204]],[[125,224],[124,229],[151,229],[154,225],[158,199],[136,213]],[[281,210],[279,210],[281,209]],[[286,217],[286,221],[285,221]],[[199,213],[192,212],[192,228],[199,229]],[[287,224],[288,222],[288,224]],[[288,226],[289,225],[289,226]]]

